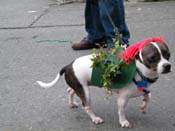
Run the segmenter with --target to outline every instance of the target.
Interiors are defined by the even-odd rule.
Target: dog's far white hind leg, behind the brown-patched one
[[[75,95],[75,91],[72,88],[68,88],[67,92],[69,94],[69,106],[71,108],[77,108],[78,104],[74,101],[74,95]]]

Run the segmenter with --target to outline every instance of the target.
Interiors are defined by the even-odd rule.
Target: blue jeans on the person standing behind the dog
[[[112,38],[115,38],[114,27],[106,10],[118,28],[123,42],[128,44],[130,33],[125,22],[123,0],[86,0],[85,29],[88,33],[87,39],[93,43],[105,38],[109,47],[114,46],[112,41]]]

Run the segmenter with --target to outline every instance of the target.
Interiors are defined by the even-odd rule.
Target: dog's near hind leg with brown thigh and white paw
[[[71,65],[66,67],[65,80],[67,84],[71,87],[71,89],[68,89],[70,104],[73,104],[73,96],[74,93],[76,93],[76,95],[81,99],[82,105],[86,113],[92,119],[92,122],[94,122],[95,124],[102,123],[103,119],[97,117],[92,111],[89,86],[86,82],[80,82],[80,79],[77,79]]]

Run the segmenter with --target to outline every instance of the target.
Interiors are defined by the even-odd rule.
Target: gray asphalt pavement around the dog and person
[[[126,18],[131,43],[161,35],[169,43],[175,65],[175,2],[127,2]],[[115,96],[104,100],[104,91],[92,87],[95,112],[105,119],[94,125],[81,109],[70,109],[67,85],[42,89],[36,80],[50,81],[73,59],[91,51],[73,51],[82,39],[84,4],[58,6],[54,0],[0,1],[0,131],[174,131],[174,71],[152,86],[149,112],[139,112],[140,98],[127,111],[132,129],[118,124]],[[79,101],[77,99],[77,101]]]

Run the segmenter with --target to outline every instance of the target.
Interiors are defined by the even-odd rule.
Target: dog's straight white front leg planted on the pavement
[[[118,115],[119,115],[119,122],[120,125],[124,128],[130,128],[131,125],[129,121],[126,119],[126,105],[128,103],[129,98],[127,96],[118,96],[117,103],[118,103]]]

